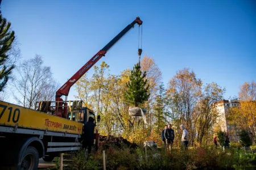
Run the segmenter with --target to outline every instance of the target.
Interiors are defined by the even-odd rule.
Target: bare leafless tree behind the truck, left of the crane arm
[[[52,78],[51,67],[43,66],[39,55],[20,63],[13,85],[15,100],[27,108],[34,108],[36,101],[53,100],[59,87]]]

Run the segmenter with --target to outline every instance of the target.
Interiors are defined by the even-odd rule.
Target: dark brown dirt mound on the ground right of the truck
[[[109,135],[109,136],[100,135],[100,146],[103,146],[104,148],[108,148],[111,145],[117,146],[119,148],[122,148],[123,146],[127,146],[130,148],[138,147],[138,145],[136,143],[131,143],[131,142],[127,141],[127,139],[124,139],[122,137],[113,137],[111,135]]]

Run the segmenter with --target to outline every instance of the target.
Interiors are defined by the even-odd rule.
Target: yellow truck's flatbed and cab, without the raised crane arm
[[[1,165],[36,169],[39,158],[51,162],[61,152],[79,150],[83,125],[95,115],[81,101],[68,102],[79,104],[69,105],[69,119],[0,101]]]

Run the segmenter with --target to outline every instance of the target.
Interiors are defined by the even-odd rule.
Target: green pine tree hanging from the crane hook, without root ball
[[[130,81],[126,83],[128,90],[125,92],[125,101],[134,107],[139,107],[150,96],[148,92],[146,71],[142,74],[141,66],[137,63],[131,70]]]

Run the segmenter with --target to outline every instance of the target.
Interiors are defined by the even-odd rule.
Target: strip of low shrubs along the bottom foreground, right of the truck
[[[243,150],[230,149],[225,152],[214,147],[197,147],[167,152],[144,147],[131,149],[110,146],[106,152],[106,169],[245,169],[255,168],[256,154],[245,154]],[[102,148],[86,157],[84,151],[73,158],[73,169],[103,169]]]

